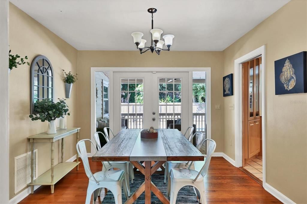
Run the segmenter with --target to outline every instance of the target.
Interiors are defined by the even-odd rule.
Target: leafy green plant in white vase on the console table
[[[56,133],[56,119],[63,115],[70,115],[68,113],[68,106],[65,99],[59,99],[59,102],[52,102],[51,99],[43,99],[36,101],[34,104],[34,114],[29,117],[34,120],[41,120],[41,122],[48,121],[47,134]]]

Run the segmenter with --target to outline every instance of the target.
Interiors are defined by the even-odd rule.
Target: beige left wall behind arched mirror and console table
[[[29,62],[36,55],[45,55],[52,63],[55,76],[55,98],[65,97],[61,69],[77,72],[78,52],[64,40],[39,24],[10,3],[10,49],[13,54],[28,56]],[[48,122],[31,121],[30,114],[30,66],[22,65],[10,73],[10,198],[14,197],[14,157],[30,151],[27,137],[45,132]],[[77,126],[77,84],[67,99],[71,115],[67,126]],[[81,130],[82,131],[82,130]],[[76,135],[64,139],[64,160],[76,154]],[[38,149],[38,174],[50,168],[50,143],[36,143]],[[55,143],[55,164],[58,163],[59,143]],[[60,154],[59,154],[60,155]]]

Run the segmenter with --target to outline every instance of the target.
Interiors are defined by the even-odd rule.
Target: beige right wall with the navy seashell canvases
[[[292,0],[223,51],[223,76],[234,60],[266,45],[266,182],[307,203],[307,94],[275,95],[274,61],[307,50],[307,1]],[[234,93],[237,94],[237,93]],[[299,103],[291,103],[299,101]],[[235,159],[234,97],[223,98],[223,151]],[[233,143],[234,144],[234,143]]]

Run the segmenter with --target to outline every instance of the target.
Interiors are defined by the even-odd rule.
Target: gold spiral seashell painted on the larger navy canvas
[[[296,76],[294,74],[294,68],[289,59],[286,60],[282,73],[279,75],[280,81],[284,84],[286,90],[290,90],[295,86]]]

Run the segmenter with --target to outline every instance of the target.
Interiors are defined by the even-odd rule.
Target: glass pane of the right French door
[[[159,78],[159,128],[181,131],[181,79]]]

